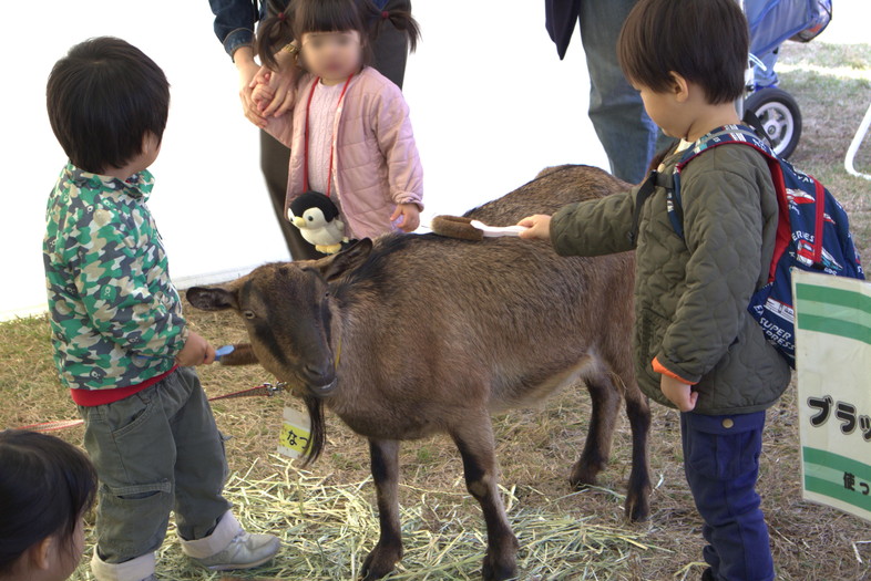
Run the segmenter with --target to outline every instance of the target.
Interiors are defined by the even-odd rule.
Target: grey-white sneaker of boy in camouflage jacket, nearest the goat
[[[250,569],[275,557],[280,548],[278,537],[245,532],[229,510],[208,537],[182,539],[182,551],[209,571]]]

